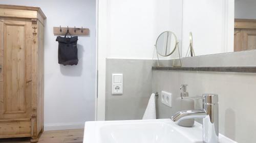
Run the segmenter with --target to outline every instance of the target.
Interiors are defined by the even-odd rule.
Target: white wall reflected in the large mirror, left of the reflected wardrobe
[[[196,55],[233,51],[234,0],[183,0],[182,56],[193,33]]]

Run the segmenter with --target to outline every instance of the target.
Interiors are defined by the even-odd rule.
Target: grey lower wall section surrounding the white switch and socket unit
[[[105,120],[142,119],[152,93],[152,60],[106,60]],[[112,95],[112,73],[123,74],[123,95]]]

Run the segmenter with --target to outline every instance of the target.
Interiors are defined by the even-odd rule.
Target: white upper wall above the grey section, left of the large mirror
[[[108,58],[152,59],[158,35],[182,38],[182,1],[108,1]]]

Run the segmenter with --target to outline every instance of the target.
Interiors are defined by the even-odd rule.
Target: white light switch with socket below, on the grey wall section
[[[123,74],[112,74],[112,94],[123,94]]]

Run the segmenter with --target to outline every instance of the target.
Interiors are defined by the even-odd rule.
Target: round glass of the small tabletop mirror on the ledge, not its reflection
[[[177,37],[173,32],[161,33],[156,41],[157,53],[161,56],[168,56],[174,53],[177,45]]]

